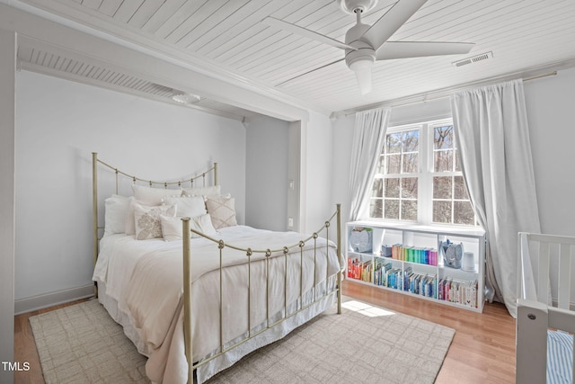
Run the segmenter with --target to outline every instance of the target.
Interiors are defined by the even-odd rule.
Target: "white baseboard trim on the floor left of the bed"
[[[91,296],[93,296],[93,284],[17,299],[14,300],[14,315],[21,315],[22,313],[48,308],[78,299],[86,299]]]

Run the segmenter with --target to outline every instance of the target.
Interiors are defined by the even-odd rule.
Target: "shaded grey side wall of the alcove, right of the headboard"
[[[287,121],[262,117],[246,128],[245,223],[288,229]]]

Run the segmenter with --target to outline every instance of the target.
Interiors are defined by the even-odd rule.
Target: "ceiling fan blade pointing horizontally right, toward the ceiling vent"
[[[420,58],[424,56],[460,55],[473,48],[472,42],[387,41],[376,52],[377,60]]]

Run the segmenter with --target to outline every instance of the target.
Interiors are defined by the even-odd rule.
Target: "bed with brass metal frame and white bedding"
[[[95,174],[99,162],[94,154]],[[167,186],[164,183],[164,191],[170,195],[180,192],[180,188],[169,190]],[[138,191],[155,193],[135,189],[132,200],[142,197]],[[173,218],[164,215],[163,237],[138,239],[146,232],[138,228],[137,219],[135,235],[128,227],[128,234],[122,233],[121,220],[112,219],[110,212],[118,212],[118,204],[126,204],[124,199],[113,196],[105,201],[106,228],[99,247],[94,247],[98,255],[93,280],[111,317],[148,357],[146,374],[154,382],[208,380],[341,299],[341,253],[322,237],[329,238],[334,218],[338,219],[336,231],[339,229],[339,206],[323,225],[326,234],[272,232],[234,222],[211,228],[211,221],[217,221],[214,213],[208,230],[198,227],[199,220],[178,219],[180,238],[167,241],[166,234],[171,232],[164,227],[164,220],[172,222]],[[95,206],[97,201],[94,187]],[[128,204],[137,217],[141,207]],[[163,203],[162,210],[167,212],[165,206]],[[94,218],[97,212],[96,207]],[[102,227],[96,221],[94,238],[98,241],[98,228]],[[190,222],[192,238],[181,236]],[[339,233],[337,238],[339,243]]]

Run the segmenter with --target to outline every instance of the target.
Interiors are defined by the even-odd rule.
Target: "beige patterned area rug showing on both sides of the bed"
[[[30,319],[47,383],[148,382],[146,358],[102,305]],[[433,383],[455,331],[353,299],[249,354],[209,384]]]

